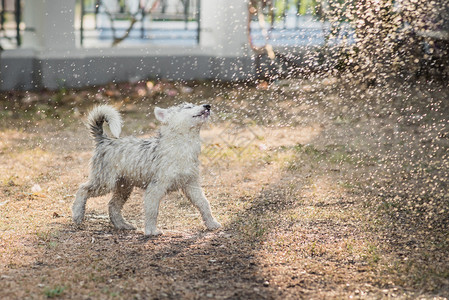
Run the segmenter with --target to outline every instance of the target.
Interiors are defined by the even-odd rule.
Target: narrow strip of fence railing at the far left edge
[[[20,0],[0,0],[0,47],[16,48],[22,44],[21,20]]]

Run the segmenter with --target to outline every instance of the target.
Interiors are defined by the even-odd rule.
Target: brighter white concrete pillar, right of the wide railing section
[[[217,56],[248,54],[248,0],[201,0],[200,45]]]

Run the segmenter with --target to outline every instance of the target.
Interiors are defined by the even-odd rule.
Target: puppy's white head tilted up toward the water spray
[[[166,109],[156,107],[154,115],[163,126],[169,127],[171,130],[185,132],[200,128],[209,119],[210,108],[209,104],[183,103]]]

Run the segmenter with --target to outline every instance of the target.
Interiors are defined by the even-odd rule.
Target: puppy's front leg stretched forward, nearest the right
[[[203,190],[198,182],[190,182],[183,187],[183,191],[190,202],[200,211],[207,229],[214,230],[221,227],[221,224],[212,216],[209,201],[204,196]]]

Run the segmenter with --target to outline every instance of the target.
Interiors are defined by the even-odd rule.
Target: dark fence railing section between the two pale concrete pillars
[[[86,41],[197,44],[200,0],[80,0],[80,44]]]

